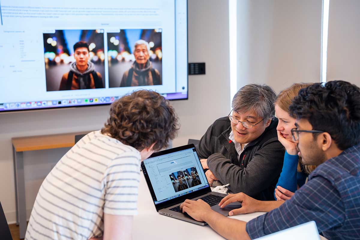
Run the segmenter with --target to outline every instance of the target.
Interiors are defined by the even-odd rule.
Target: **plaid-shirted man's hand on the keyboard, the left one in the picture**
[[[198,199],[196,201],[186,199],[180,205],[180,210],[182,210],[183,213],[189,214],[196,221],[202,222],[205,221],[204,216],[206,216],[209,211],[213,211],[210,205],[201,199]]]

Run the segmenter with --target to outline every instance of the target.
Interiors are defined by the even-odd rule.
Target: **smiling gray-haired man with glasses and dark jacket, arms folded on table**
[[[209,184],[230,184],[258,200],[274,200],[283,166],[274,117],[276,94],[267,85],[243,86],[229,116],[217,119],[201,138],[197,151]]]

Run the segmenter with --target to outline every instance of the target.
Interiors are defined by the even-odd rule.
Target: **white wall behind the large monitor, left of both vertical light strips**
[[[189,62],[205,62],[206,75],[189,76],[189,100],[173,101],[181,129],[173,146],[199,139],[207,127],[229,111],[228,1],[190,0]],[[0,201],[8,222],[15,221],[12,137],[97,130],[109,107],[0,114]],[[24,153],[28,217],[37,191],[68,148]]]

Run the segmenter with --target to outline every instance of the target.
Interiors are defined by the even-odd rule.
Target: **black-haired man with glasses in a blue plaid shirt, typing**
[[[255,239],[309,221],[327,239],[360,239],[360,88],[315,83],[299,91],[289,110],[302,163],[318,166],[291,199],[258,201],[239,193],[221,200],[220,207],[242,203],[230,216],[270,211],[248,223],[226,218],[200,199],[180,208],[227,239]]]

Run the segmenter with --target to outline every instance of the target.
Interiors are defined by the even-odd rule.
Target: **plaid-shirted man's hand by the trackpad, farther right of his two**
[[[224,208],[226,205],[234,202],[241,203],[241,208],[231,210],[229,216],[260,211],[261,201],[253,199],[244,193],[229,194],[225,196],[225,198],[221,199],[219,206]]]

